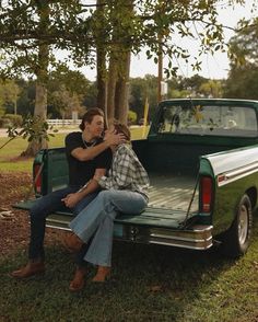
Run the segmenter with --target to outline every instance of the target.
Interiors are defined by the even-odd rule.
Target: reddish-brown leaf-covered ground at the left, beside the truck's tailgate
[[[27,248],[30,222],[27,211],[17,210],[13,204],[24,199],[32,187],[32,176],[24,172],[0,173],[0,255]],[[59,241],[57,231],[47,229],[46,243]]]

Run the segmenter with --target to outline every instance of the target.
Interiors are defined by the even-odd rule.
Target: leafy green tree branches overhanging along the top
[[[236,2],[239,1],[232,1]],[[87,4],[83,0],[5,0],[1,3],[0,49],[2,59],[9,62],[5,73],[17,68],[35,71],[39,43],[49,46],[50,62],[55,61],[55,50],[69,50],[69,59],[79,66],[95,64],[99,43],[105,46],[107,57],[116,50],[119,55],[121,50],[139,53],[145,48],[146,56],[155,62],[161,50],[169,60],[189,58],[188,50],[173,42],[175,34],[183,38],[198,34],[200,53],[224,46],[218,1],[116,0]],[[129,5],[132,10],[125,14]],[[101,19],[96,14],[98,7],[103,8]],[[39,19],[43,11],[44,21]],[[192,68],[200,68],[198,57]],[[168,69],[176,71],[172,61]]]

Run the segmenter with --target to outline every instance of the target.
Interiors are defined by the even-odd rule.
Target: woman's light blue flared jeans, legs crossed
[[[119,212],[138,215],[146,204],[146,198],[136,192],[101,192],[70,223],[72,231],[85,243],[92,238],[84,261],[110,266],[114,219]]]

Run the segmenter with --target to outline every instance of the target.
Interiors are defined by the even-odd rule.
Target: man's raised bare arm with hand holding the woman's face
[[[110,146],[116,146],[121,142],[125,142],[125,136],[122,134],[108,134],[105,136],[104,141],[95,147],[90,147],[87,149],[83,148],[75,148],[71,151],[73,158],[78,159],[79,161],[87,161],[92,160],[103,151],[105,151]]]

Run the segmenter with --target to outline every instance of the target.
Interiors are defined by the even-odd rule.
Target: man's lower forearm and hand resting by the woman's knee
[[[99,177],[106,174],[106,169],[96,169],[94,177]],[[64,205],[69,208],[73,208],[80,200],[82,200],[86,195],[94,193],[98,187],[98,183],[94,177],[87,183],[87,185],[74,194],[69,194],[62,199]]]

